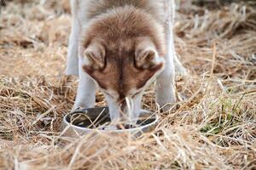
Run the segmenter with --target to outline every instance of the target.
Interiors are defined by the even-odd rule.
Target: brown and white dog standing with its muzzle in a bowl
[[[129,111],[136,122],[143,91],[155,78],[157,103],[176,101],[174,65],[185,69],[173,45],[173,1],[71,0],[67,75],[79,75],[74,109],[93,107],[98,86],[112,121]]]

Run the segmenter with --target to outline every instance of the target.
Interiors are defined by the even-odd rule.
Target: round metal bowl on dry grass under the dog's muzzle
[[[108,127],[111,122],[108,107],[96,107],[73,111],[63,118],[62,129],[65,136],[77,137],[87,133],[131,133],[140,136],[154,129],[158,116],[152,112],[144,112],[138,118],[136,126],[120,125],[116,129]]]

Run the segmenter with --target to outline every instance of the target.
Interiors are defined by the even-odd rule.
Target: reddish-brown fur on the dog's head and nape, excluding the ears
[[[165,54],[163,32],[151,14],[131,6],[99,15],[84,30],[82,49],[88,48],[91,42],[101,43],[106,50],[105,66],[96,70],[84,65],[84,71],[101,88],[113,89],[119,93],[120,100],[124,99],[131,88],[143,88],[148,79],[163,67],[160,64],[142,69],[135,64],[135,49],[143,38],[149,38],[161,56]]]

